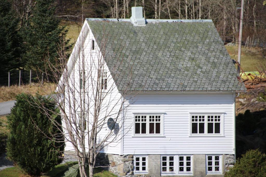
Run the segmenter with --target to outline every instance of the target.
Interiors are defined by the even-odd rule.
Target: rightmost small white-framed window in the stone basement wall
[[[221,156],[214,155],[208,156],[207,155],[207,173],[221,173]]]

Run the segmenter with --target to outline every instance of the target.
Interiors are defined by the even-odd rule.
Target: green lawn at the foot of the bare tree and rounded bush
[[[52,170],[49,170],[44,176],[40,177],[56,177],[58,174],[66,170],[69,166],[75,165],[77,162],[68,162],[55,166]],[[88,170],[88,169],[87,169]],[[94,177],[116,177],[109,171],[103,170],[102,168],[94,169]],[[10,167],[0,171],[0,177],[30,177],[29,175],[23,174],[18,167]]]

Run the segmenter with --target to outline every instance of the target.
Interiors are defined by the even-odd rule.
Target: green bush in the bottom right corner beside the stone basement
[[[225,173],[225,177],[264,177],[266,176],[266,155],[258,149],[242,155],[235,166]]]

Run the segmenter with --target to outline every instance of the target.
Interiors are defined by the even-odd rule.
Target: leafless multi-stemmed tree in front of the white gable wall
[[[89,176],[93,176],[97,154],[117,146],[123,137],[120,130],[127,111],[124,98],[131,99],[136,95],[128,92],[131,69],[119,69],[124,62],[120,52],[115,57],[106,57],[109,52],[106,49],[107,35],[99,46],[87,38],[84,31],[80,33],[69,59],[63,42],[58,50],[60,58],[57,63],[48,65],[52,71],[49,77],[59,83],[58,94],[54,94],[53,99],[61,112],[62,133],[66,146],[73,147],[81,177],[87,176],[86,162]],[[107,68],[106,63],[110,62],[113,67]],[[119,92],[115,83],[121,75],[127,76],[127,82]]]

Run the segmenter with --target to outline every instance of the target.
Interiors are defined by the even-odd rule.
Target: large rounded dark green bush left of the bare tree
[[[61,124],[61,116],[49,98],[21,94],[16,99],[7,116],[10,129],[7,156],[27,174],[40,175],[62,162],[59,157],[64,150],[64,139],[54,124]],[[46,109],[49,118],[38,105]]]

